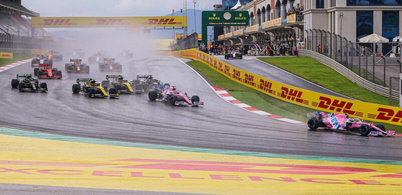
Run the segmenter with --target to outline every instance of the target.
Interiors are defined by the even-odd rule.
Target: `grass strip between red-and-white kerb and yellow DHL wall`
[[[257,90],[246,87],[242,84],[236,83],[224,75],[218,73],[214,69],[210,68],[207,64],[200,61],[191,61],[187,63],[192,68],[196,69],[202,74],[209,82],[218,87],[229,90],[229,93],[241,102],[248,104],[252,107],[258,108],[265,112],[282,116],[285,118],[307,122],[306,113],[315,111],[311,108],[298,106],[282,100],[273,98]],[[371,122],[371,121],[366,121]],[[386,124],[387,129],[392,129],[398,133],[402,132],[401,126]]]

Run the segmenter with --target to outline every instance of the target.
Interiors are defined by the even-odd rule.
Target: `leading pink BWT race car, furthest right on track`
[[[318,127],[338,129],[343,131],[357,130],[362,135],[385,136],[394,135],[395,131],[385,131],[383,124],[365,123],[358,118],[349,118],[348,114],[325,114],[325,112],[307,113],[309,121],[307,125],[310,129]]]

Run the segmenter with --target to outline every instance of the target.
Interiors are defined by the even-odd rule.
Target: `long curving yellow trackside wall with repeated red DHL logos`
[[[402,125],[402,108],[350,100],[272,81],[254,73],[236,68],[196,49],[171,52],[170,55],[207,63],[229,79],[277,99],[335,113],[348,113],[352,117]]]

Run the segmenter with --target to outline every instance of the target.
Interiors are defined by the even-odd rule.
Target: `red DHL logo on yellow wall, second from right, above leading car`
[[[313,106],[317,106],[319,108],[324,108],[324,109],[329,109],[333,110],[339,113],[347,113],[351,115],[356,115],[356,116],[363,116],[362,112],[356,112],[351,110],[353,103],[352,102],[345,102],[345,101],[340,101],[337,99],[334,99],[334,101],[331,100],[331,98],[323,97],[320,96],[319,100],[321,100],[319,103],[313,102]]]

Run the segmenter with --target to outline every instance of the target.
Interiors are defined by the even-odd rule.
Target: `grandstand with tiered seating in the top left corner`
[[[39,17],[21,4],[21,0],[0,0],[0,48],[41,48],[44,29],[31,28],[30,17]]]

